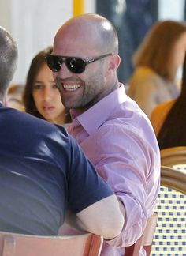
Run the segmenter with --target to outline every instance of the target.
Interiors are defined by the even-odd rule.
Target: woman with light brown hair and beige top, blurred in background
[[[148,117],[158,104],[179,96],[177,71],[183,65],[185,50],[186,24],[158,21],[132,56],[135,70],[127,94]]]

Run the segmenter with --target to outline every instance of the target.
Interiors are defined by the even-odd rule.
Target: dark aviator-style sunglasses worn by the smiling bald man
[[[72,73],[83,73],[87,64],[91,62],[95,62],[100,58],[105,58],[106,56],[112,55],[106,54],[101,55],[96,58],[85,59],[85,58],[78,58],[78,57],[65,57],[60,55],[47,55],[47,65],[49,66],[50,70],[53,72],[58,72],[61,69],[62,63],[65,63],[66,67]]]

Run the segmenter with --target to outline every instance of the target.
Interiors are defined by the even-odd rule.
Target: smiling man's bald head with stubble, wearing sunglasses
[[[59,66],[54,80],[63,104],[84,111],[118,88],[117,53],[117,32],[105,17],[83,14],[65,22],[55,36],[50,63]]]

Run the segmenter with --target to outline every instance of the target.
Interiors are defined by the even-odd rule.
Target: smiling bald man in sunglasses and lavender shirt
[[[120,62],[115,28],[96,14],[63,24],[47,56],[62,103],[71,109],[69,133],[113,188],[125,219],[120,235],[105,240],[102,256],[124,255],[139,239],[159,189],[158,143],[149,119],[117,79]]]

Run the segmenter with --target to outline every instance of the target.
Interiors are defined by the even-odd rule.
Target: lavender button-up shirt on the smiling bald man
[[[124,247],[142,235],[158,197],[160,156],[154,130],[136,102],[125,94],[124,85],[76,115],[72,111],[69,134],[125,206],[121,235],[104,242],[101,255],[124,255]]]

